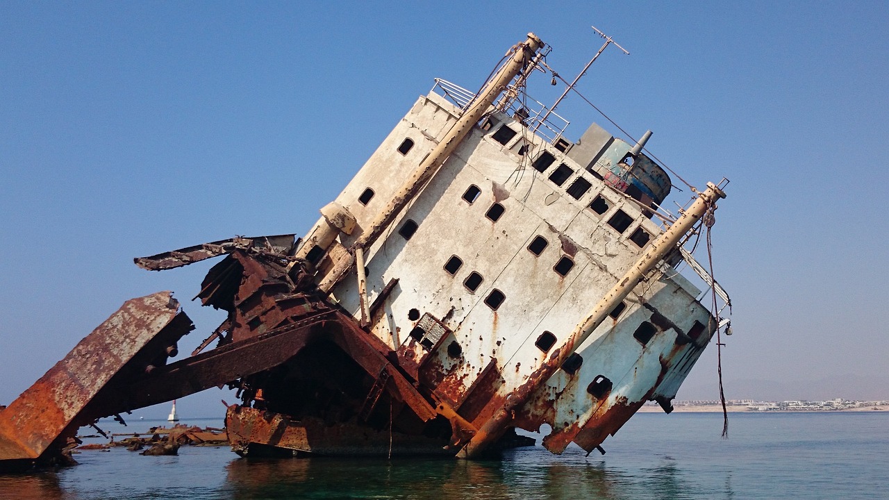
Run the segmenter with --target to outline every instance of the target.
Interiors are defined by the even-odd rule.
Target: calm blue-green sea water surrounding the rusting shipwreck
[[[487,462],[115,448],[58,472],[0,476],[0,498],[889,498],[889,413],[735,414],[728,440],[721,431],[718,414],[639,414],[605,440],[605,456],[538,446]]]

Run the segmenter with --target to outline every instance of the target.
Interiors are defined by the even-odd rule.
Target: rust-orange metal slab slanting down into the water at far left
[[[84,409],[112,377],[132,359],[160,356],[143,352],[156,336],[178,340],[190,328],[171,292],[124,302],[0,413],[0,461],[36,459],[66,430],[92,423],[102,415]]]

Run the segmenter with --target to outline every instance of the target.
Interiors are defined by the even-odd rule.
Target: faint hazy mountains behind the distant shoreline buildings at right
[[[889,374],[831,375],[811,381],[774,381],[758,379],[725,380],[726,399],[760,401],[826,399],[884,400],[889,399]],[[687,381],[679,389],[677,400],[719,399],[719,387],[711,383]]]

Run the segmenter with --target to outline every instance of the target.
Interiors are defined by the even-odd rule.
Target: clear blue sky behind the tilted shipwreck
[[[475,89],[528,31],[573,77],[591,25],[630,55],[606,51],[581,92],[686,180],[732,181],[713,236],[727,397],[889,399],[885,2],[7,1],[0,403],[134,296],[176,292],[191,351],[222,319],[188,302],[212,262],[132,257],[302,234],[434,77]],[[554,99],[546,77],[529,91]],[[580,99],[559,112],[571,139],[617,133]],[[711,348],[679,398],[715,388]]]

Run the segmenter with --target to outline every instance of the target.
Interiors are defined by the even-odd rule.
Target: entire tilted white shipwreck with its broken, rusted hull
[[[223,384],[242,456],[475,458],[543,424],[553,453],[601,451],[646,401],[669,412],[723,326],[676,268],[727,302],[683,249],[727,181],[673,217],[649,133],[565,140],[555,106],[525,96],[535,69],[555,82],[546,49],[529,34],[479,93],[436,80],[305,238],[136,259],[224,257],[197,297],[228,319],[168,363],[191,320],[170,292],[125,302],[0,411],[0,465],[61,463],[80,426]]]

